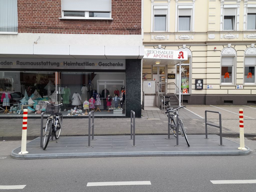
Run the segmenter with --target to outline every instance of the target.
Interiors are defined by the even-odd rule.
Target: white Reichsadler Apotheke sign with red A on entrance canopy
[[[188,52],[166,49],[144,49],[143,58],[188,60]]]

